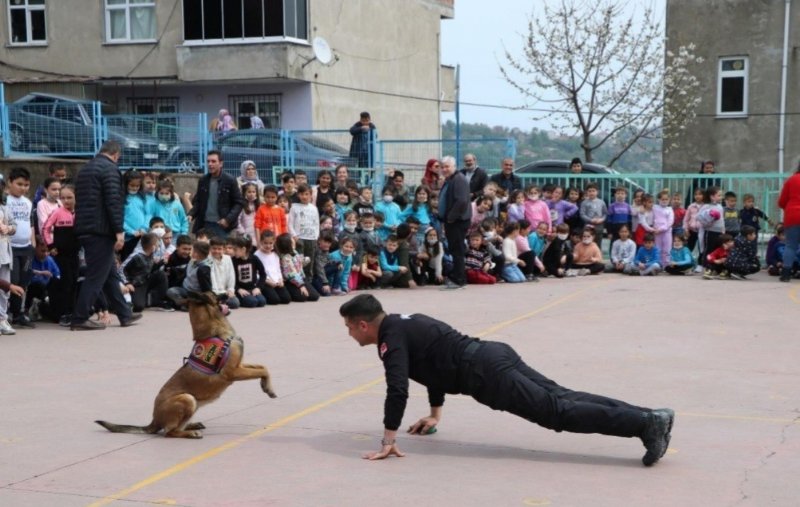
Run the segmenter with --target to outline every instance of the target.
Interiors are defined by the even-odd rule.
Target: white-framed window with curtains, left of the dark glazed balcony
[[[155,0],[105,0],[108,42],[156,40]]]

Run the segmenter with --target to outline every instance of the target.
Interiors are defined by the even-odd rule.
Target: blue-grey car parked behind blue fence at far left
[[[102,114],[109,114],[107,107]],[[63,95],[31,93],[9,104],[11,150],[87,157],[101,135],[90,101]],[[156,165],[169,153],[167,143],[125,125],[109,125],[108,139],[122,146],[120,166]]]

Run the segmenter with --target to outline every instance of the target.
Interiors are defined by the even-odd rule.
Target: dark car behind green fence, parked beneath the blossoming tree
[[[624,174],[615,171],[610,167],[600,164],[593,164],[591,162],[585,162],[582,164],[583,170],[581,175],[573,175],[570,170],[571,165],[572,164],[569,160],[539,160],[525,164],[514,171],[514,174],[521,177],[523,179],[523,184],[525,185],[534,182],[539,186],[553,183],[561,186],[583,188],[583,186],[589,181],[594,181],[600,186],[600,191],[598,192],[599,196],[602,197],[606,202],[613,201],[614,189],[618,187],[624,187],[628,190],[629,200],[633,192],[636,190],[643,190],[638,183],[630,178],[625,177]],[[564,176],[555,176],[559,174],[563,174]],[[593,174],[598,175],[598,177],[592,178],[591,176],[584,176]],[[542,176],[537,177],[537,175]],[[570,176],[577,177],[570,179]]]

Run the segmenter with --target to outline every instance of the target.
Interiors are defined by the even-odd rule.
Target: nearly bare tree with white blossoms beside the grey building
[[[606,143],[613,165],[639,139],[678,132],[695,118],[701,63],[694,46],[664,51],[661,22],[652,8],[626,14],[613,1],[536,2],[522,55],[505,51],[503,77],[562,135],[581,136],[584,159]],[[540,7],[541,6],[541,7]],[[665,149],[674,148],[663,139]]]

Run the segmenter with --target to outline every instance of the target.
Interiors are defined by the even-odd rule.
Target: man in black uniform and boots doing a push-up
[[[652,466],[667,452],[675,412],[652,410],[556,384],[522,360],[510,346],[483,342],[427,315],[387,315],[371,294],[359,294],[339,308],[359,345],[377,345],[386,371],[381,450],[377,460],[404,456],[395,436],[408,400],[408,381],[428,388],[431,412],[408,428],[427,435],[442,418],[445,393],[466,394],[478,403],[554,431],[641,438],[642,457]]]

